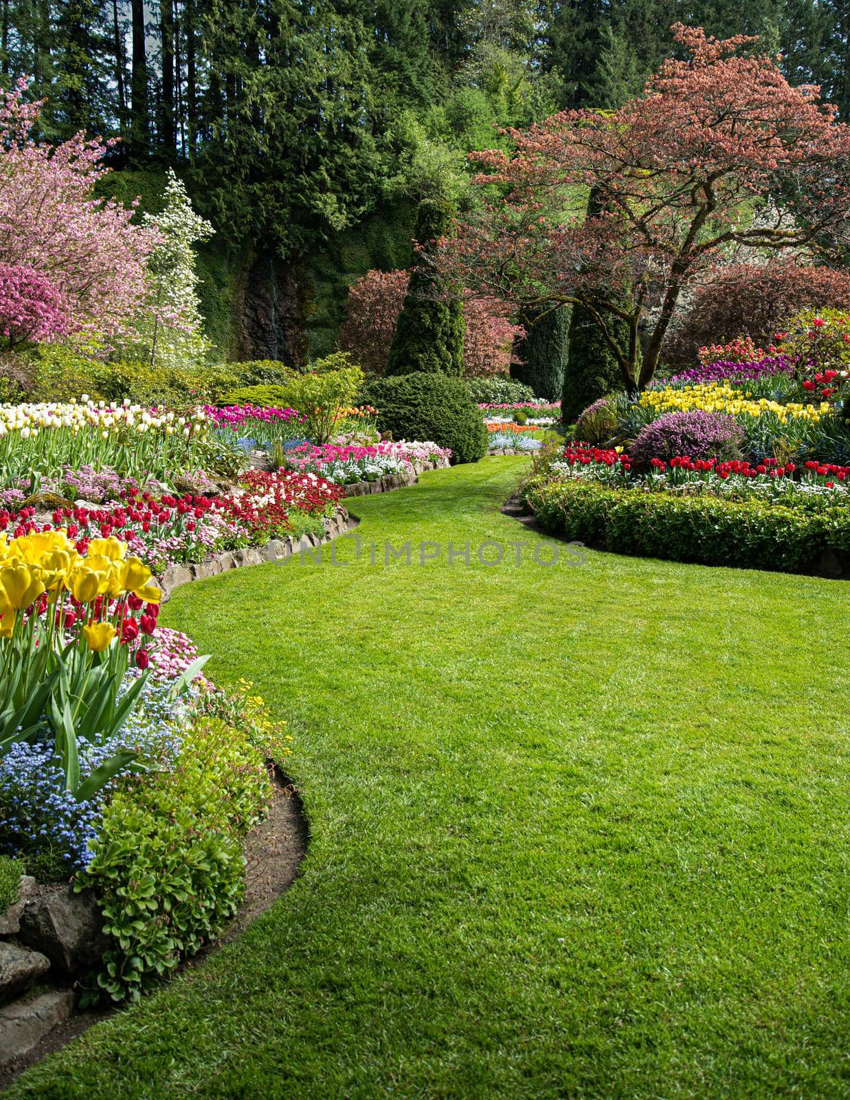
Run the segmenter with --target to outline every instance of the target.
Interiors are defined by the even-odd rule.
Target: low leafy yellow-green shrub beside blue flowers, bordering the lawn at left
[[[271,794],[263,751],[216,717],[195,723],[174,771],[114,794],[92,861],[75,880],[95,890],[114,944],[97,976],[103,993],[136,1000],[235,914],[242,838]]]

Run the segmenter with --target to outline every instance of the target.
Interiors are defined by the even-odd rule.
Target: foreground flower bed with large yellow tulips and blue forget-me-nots
[[[266,760],[288,752],[262,700],[217,691],[189,639],[158,630],[158,601],[114,538],[0,546],[0,851],[93,890],[89,997],[134,999],[234,914]]]

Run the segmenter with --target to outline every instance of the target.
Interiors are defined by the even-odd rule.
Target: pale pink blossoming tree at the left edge
[[[132,208],[95,197],[107,145],[82,133],[35,141],[41,105],[25,89],[0,92],[0,262],[48,279],[70,329],[112,337],[144,308],[158,235],[131,222]]]

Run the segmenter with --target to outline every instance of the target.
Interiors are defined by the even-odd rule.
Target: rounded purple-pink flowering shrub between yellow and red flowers
[[[681,454],[731,462],[741,458],[743,441],[743,431],[730,416],[693,409],[666,413],[641,428],[629,453],[639,470],[649,469],[652,459],[669,462]]]

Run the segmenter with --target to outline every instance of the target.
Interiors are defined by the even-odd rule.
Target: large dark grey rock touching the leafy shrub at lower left
[[[95,966],[108,941],[91,890],[74,893],[65,887],[27,902],[21,916],[21,939],[42,952],[60,974],[74,976]]]

